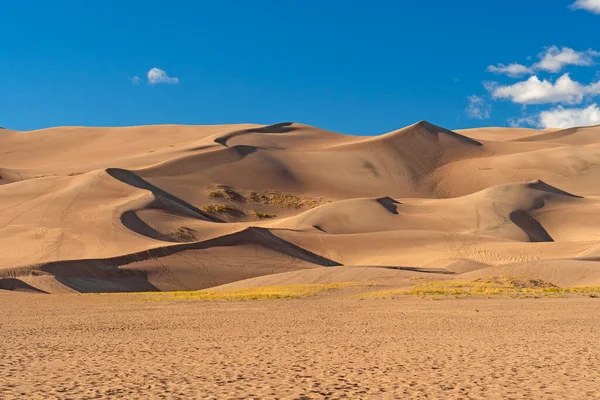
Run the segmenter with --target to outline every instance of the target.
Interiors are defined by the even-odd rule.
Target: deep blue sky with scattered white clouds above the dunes
[[[574,1],[6,0],[0,126],[592,124],[600,0]]]

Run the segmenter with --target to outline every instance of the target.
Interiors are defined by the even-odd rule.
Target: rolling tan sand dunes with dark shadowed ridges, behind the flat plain
[[[598,284],[599,182],[600,126],[2,130],[0,289]]]

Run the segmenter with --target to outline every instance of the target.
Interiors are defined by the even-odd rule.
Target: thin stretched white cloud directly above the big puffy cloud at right
[[[567,65],[593,65],[594,58],[599,56],[600,52],[592,49],[586,51],[575,51],[569,47],[559,48],[557,46],[550,46],[538,54],[540,61],[529,67],[523,64],[512,63],[508,65],[490,65],[488,66],[487,70],[497,74],[505,74],[513,78],[526,74],[533,74],[535,71],[557,73]]]

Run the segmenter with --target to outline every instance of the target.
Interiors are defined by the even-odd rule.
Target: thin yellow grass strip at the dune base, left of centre
[[[310,285],[264,286],[241,289],[152,293],[149,300],[275,300],[311,296],[320,292],[355,286],[353,282]]]

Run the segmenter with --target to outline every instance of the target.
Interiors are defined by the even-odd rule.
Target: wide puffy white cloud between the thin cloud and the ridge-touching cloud
[[[534,75],[514,85],[485,83],[484,87],[494,99],[509,99],[518,104],[579,104],[585,96],[600,94],[600,82],[585,86],[572,80],[569,74],[562,75],[555,83]]]

